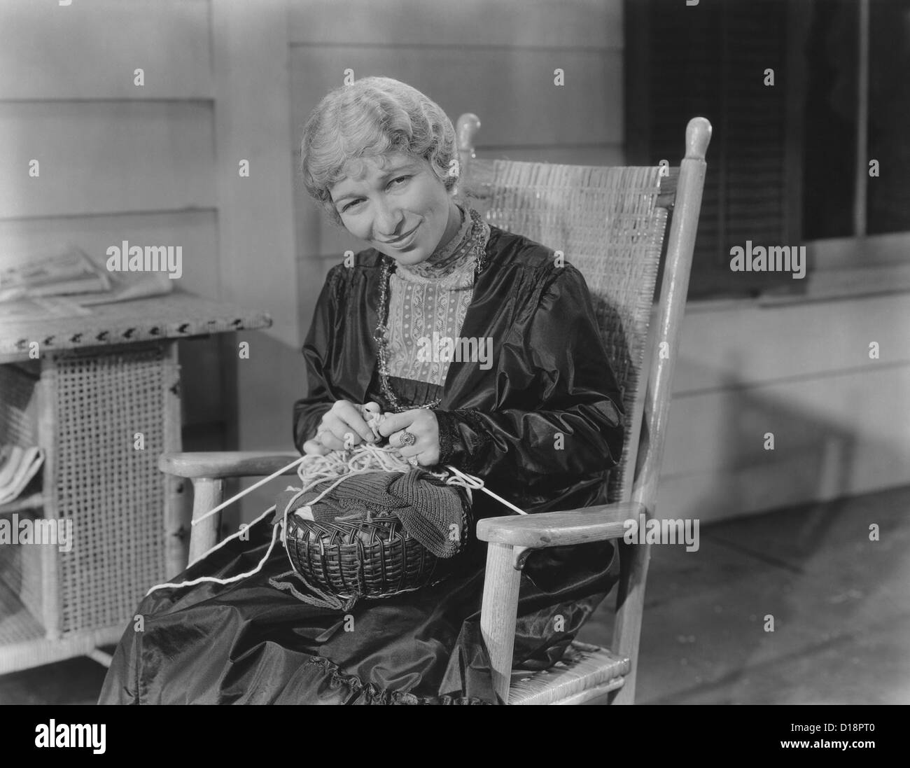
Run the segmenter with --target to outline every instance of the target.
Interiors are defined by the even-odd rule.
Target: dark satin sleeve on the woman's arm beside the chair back
[[[624,414],[597,327],[591,295],[577,268],[551,267],[508,339],[509,388],[521,408],[436,412],[440,463],[541,499],[547,489],[615,466]]]

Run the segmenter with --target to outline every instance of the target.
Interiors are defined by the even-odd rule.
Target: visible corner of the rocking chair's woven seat
[[[510,704],[562,703],[569,696],[602,687],[603,692],[622,686],[629,659],[598,645],[572,642],[565,656],[549,670],[512,672]]]

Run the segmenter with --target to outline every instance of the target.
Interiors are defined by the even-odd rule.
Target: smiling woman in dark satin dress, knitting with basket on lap
[[[376,442],[365,416],[382,411],[379,440],[415,473],[454,467],[530,513],[604,503],[622,399],[584,278],[456,197],[449,117],[410,86],[368,77],[322,99],[302,149],[309,194],[366,248],[322,288],[303,348],[308,395],[294,405],[298,449]],[[428,356],[427,339],[469,354]],[[474,496],[474,520],[508,511]],[[125,633],[101,701],[497,702],[480,636],[482,542],[445,581],[340,613],[314,606],[305,584],[284,591],[282,551],[239,578],[270,537],[261,520],[174,580],[208,581],[147,597],[144,631]],[[609,541],[531,554],[515,665],[559,661],[616,573]]]

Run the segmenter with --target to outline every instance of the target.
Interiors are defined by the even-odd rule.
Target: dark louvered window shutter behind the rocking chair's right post
[[[693,116],[713,125],[690,298],[800,291],[791,272],[733,272],[730,249],[796,246],[802,179],[799,35],[786,0],[631,0],[628,162],[671,166]],[[765,70],[773,86],[765,86]]]

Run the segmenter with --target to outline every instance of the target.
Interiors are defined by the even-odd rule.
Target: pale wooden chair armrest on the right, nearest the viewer
[[[492,544],[540,550],[585,541],[618,539],[626,531],[626,520],[647,517],[648,511],[638,501],[599,504],[580,510],[538,512],[486,518],[477,523],[477,538]]]

